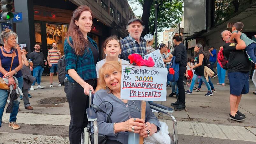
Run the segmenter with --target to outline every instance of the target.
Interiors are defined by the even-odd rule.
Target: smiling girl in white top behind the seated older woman
[[[119,61],[122,64],[127,64],[127,65],[130,64],[129,61],[118,58],[119,54],[121,54],[122,49],[121,49],[121,44],[115,35],[108,37],[104,41],[102,48],[103,48],[104,54],[106,54],[106,58],[97,62],[95,66],[97,78],[99,78],[99,69],[103,66],[105,62]],[[97,82],[96,91],[100,89],[98,82]]]

